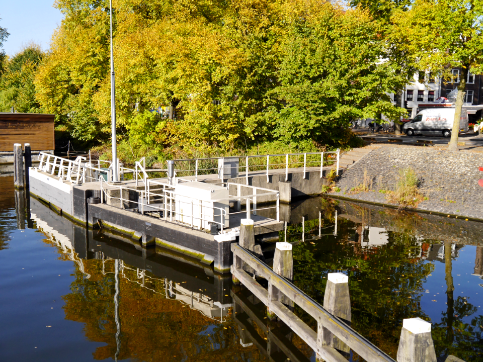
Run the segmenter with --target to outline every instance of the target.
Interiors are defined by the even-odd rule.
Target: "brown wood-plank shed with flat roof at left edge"
[[[32,151],[53,150],[54,115],[0,113],[0,152],[13,152],[14,143],[30,143]]]

